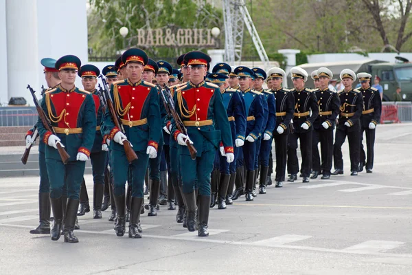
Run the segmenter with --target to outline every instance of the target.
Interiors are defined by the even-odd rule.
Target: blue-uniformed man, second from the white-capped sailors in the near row
[[[256,157],[256,140],[262,131],[264,124],[264,110],[262,105],[262,96],[257,91],[253,91],[251,86],[251,77],[253,71],[248,67],[236,67],[234,73],[239,78],[240,91],[244,101],[245,113],[247,115],[246,142],[243,148],[244,165],[246,166],[246,184],[245,194],[247,201],[253,201],[253,184],[255,182],[255,157]],[[234,197],[234,196],[233,196]],[[237,197],[236,197],[237,199]]]

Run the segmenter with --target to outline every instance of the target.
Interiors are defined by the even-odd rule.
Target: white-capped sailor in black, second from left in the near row
[[[297,161],[297,140],[300,140],[302,155],[301,174],[302,182],[309,182],[310,168],[312,167],[312,131],[313,122],[319,113],[316,96],[310,89],[305,88],[308,73],[300,67],[290,69],[292,75],[293,96],[295,96],[295,113],[293,114],[293,126],[295,132],[290,135],[288,148],[288,167],[290,167],[290,178],[293,182],[297,179],[299,164]],[[312,114],[310,113],[312,111]]]

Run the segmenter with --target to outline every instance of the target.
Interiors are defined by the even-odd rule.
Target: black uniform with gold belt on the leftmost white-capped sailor
[[[276,124],[273,131],[275,140],[276,153],[276,176],[275,181],[278,187],[282,187],[282,181],[285,180],[286,173],[286,156],[288,154],[288,135],[289,124],[293,118],[295,97],[288,89],[271,90],[276,98]],[[277,127],[281,126],[284,132],[277,133]],[[281,184],[279,186],[279,183]]]

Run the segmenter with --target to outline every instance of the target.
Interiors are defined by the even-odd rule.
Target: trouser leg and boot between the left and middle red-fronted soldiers
[[[102,200],[104,188],[104,170],[106,169],[107,152],[99,151],[90,154],[93,173],[93,218],[102,219]]]

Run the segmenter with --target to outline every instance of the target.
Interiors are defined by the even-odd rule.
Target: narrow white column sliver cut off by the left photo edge
[[[7,32],[5,28],[5,0],[0,0],[0,76],[3,83],[0,89],[0,105],[8,102]]]

